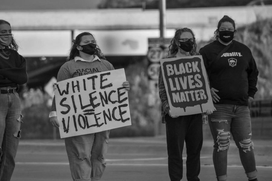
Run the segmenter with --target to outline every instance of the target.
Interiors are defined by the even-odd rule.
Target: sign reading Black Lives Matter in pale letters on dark
[[[201,55],[161,59],[160,64],[173,116],[214,111]]]

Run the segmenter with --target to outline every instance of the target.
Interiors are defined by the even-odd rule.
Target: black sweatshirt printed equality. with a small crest
[[[218,104],[248,105],[248,97],[257,92],[259,71],[250,49],[232,40],[232,45],[215,61],[225,48],[218,40],[202,47],[199,53],[209,75],[210,87],[219,90]]]

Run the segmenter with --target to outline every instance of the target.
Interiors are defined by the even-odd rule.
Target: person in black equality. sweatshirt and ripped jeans
[[[233,40],[235,33],[234,20],[225,15],[214,32],[216,40],[199,50],[217,110],[209,116],[214,140],[213,164],[217,180],[227,180],[227,154],[232,133],[248,179],[257,181],[248,103],[257,92],[258,70],[250,49]],[[228,45],[230,47],[221,52]],[[220,58],[216,59],[218,55]]]

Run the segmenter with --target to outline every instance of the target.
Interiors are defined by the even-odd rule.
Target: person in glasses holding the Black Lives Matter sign
[[[196,46],[195,35],[191,29],[181,28],[176,30],[175,36],[169,46],[168,58],[197,55]],[[161,67],[159,69],[158,85],[160,100],[162,102],[162,123],[166,123],[170,180],[180,181],[183,177],[182,152],[185,141],[187,152],[186,177],[188,181],[198,181],[200,172],[200,151],[203,142],[202,115],[201,113],[187,116],[171,115]],[[206,114],[211,113],[212,110],[207,110],[206,112]],[[206,117],[204,116],[204,118]]]

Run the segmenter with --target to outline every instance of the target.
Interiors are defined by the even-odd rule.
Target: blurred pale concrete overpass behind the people
[[[180,27],[189,27],[198,41],[209,40],[223,15],[229,15],[241,27],[272,17],[272,5],[167,9],[166,37],[173,37]],[[82,31],[96,36],[106,56],[146,55],[147,38],[159,37],[158,10],[1,11],[0,17],[11,23],[19,52],[29,57],[66,56],[71,39]]]

